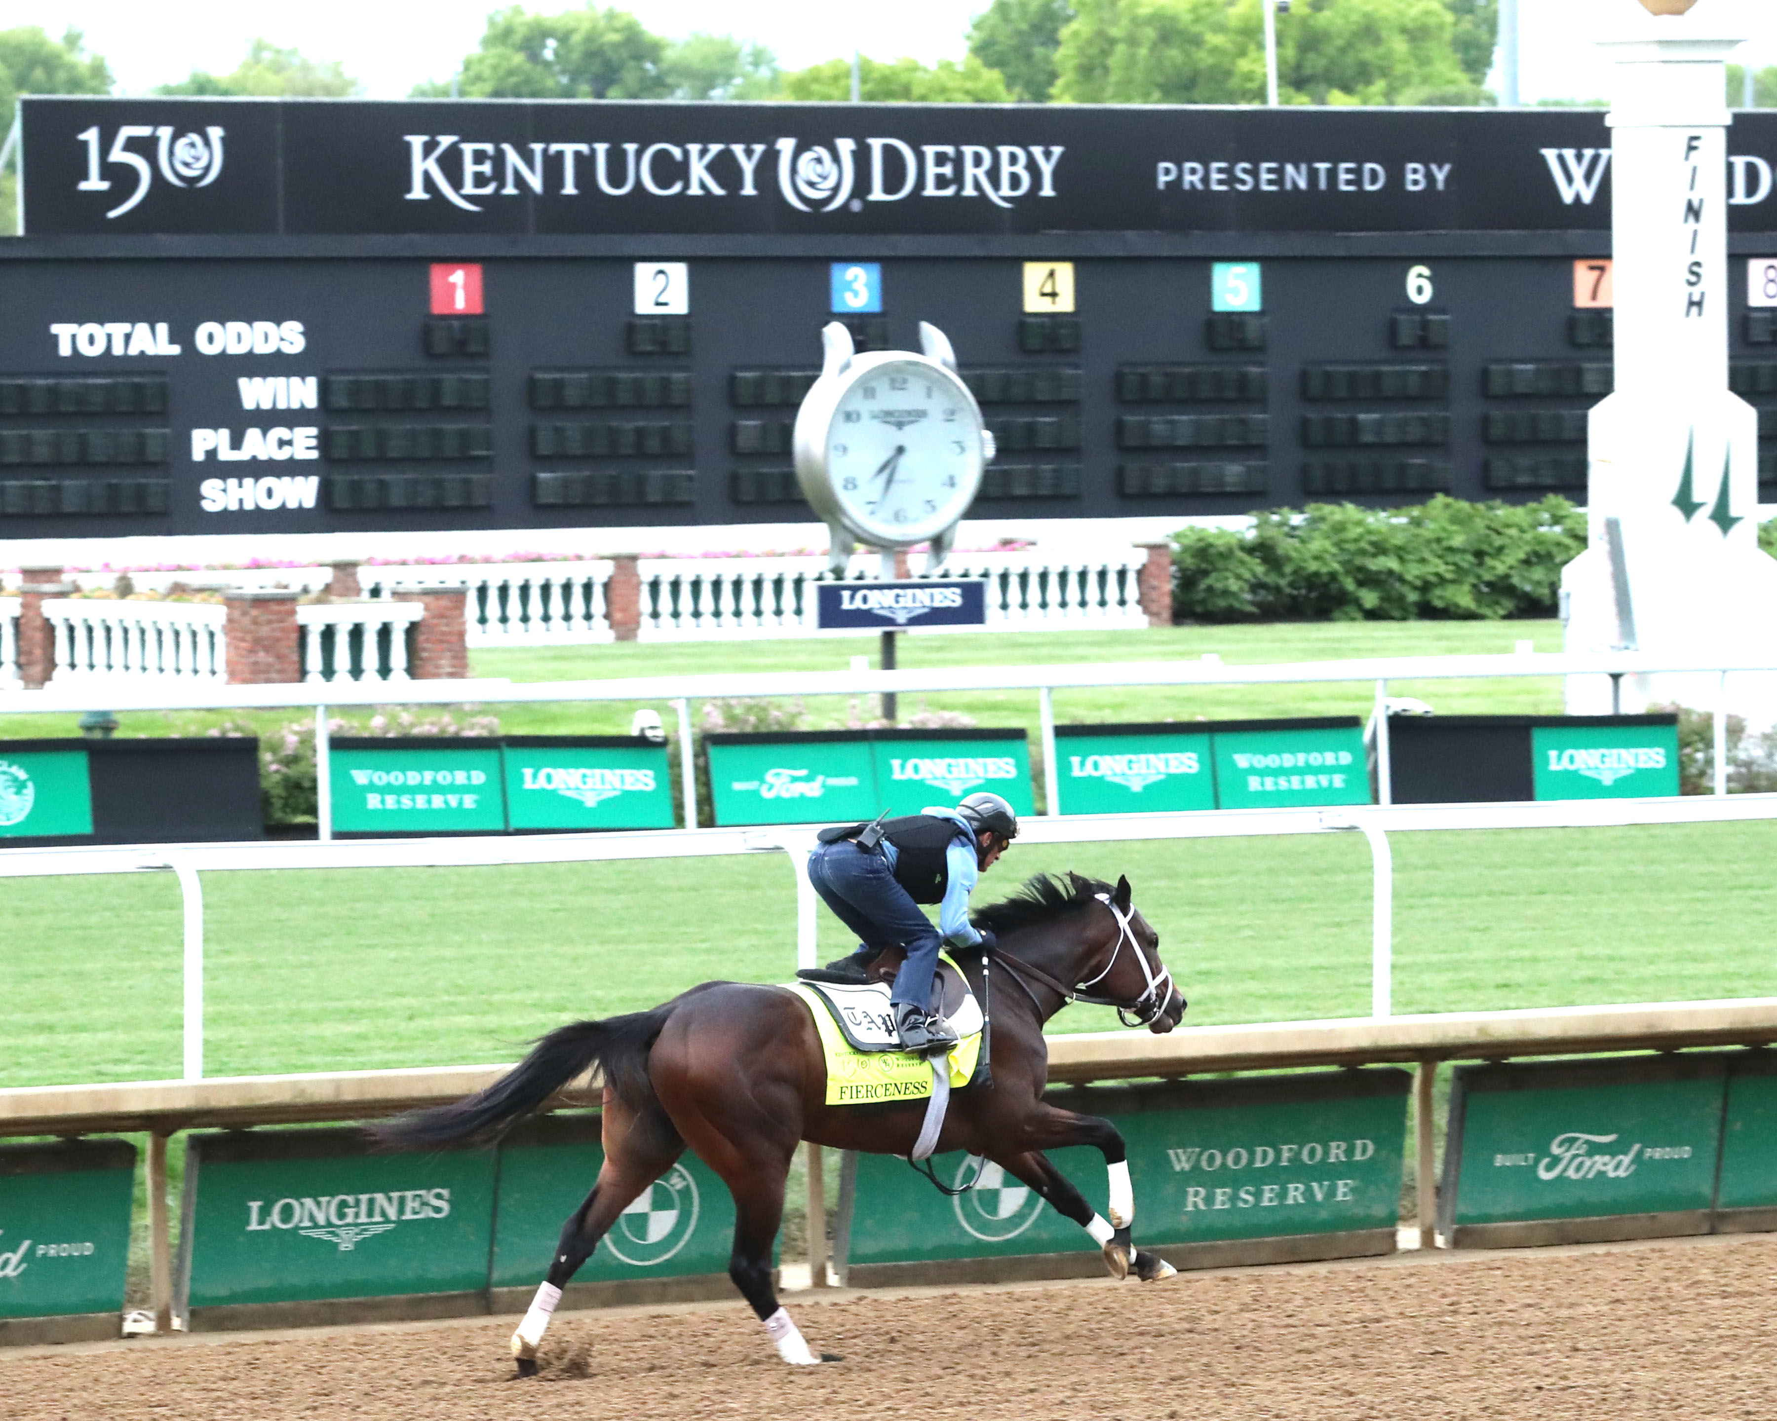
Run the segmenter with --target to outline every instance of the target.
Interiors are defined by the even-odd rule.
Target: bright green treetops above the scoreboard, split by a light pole
[[[1462,18],[1466,55],[1484,21],[1478,9]],[[1457,39],[1445,0],[1299,0],[1278,23],[1279,94],[1285,103],[1482,103]],[[1263,11],[1260,0],[1080,0],[1056,71],[1054,96],[1075,103],[1262,103]]]

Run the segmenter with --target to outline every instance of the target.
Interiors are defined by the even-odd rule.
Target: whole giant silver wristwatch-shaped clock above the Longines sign
[[[928,322],[919,323],[920,355],[858,355],[839,322],[821,341],[826,359],[796,412],[794,448],[801,492],[832,529],[833,570],[844,572],[857,544],[929,544],[929,572],[949,554],[993,458],[956,353]]]

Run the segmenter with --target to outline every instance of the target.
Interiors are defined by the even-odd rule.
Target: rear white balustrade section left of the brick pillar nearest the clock
[[[583,563],[441,563],[361,567],[366,597],[386,599],[423,588],[467,586],[466,641],[471,647],[578,647],[610,641],[604,584],[615,565]]]

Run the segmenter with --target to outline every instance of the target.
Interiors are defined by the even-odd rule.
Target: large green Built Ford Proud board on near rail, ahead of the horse
[[[1455,1247],[1708,1233],[1722,1055],[1457,1066],[1439,1190]]]

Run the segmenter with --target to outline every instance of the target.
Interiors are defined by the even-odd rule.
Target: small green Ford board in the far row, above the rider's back
[[[718,824],[828,824],[881,814],[862,735],[705,735],[704,746]]]

